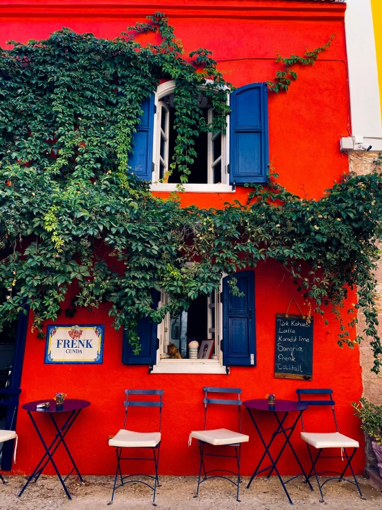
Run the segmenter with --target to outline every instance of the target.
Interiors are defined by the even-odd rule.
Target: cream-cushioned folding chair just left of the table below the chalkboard
[[[199,496],[199,485],[205,480],[211,480],[211,478],[223,478],[224,480],[228,480],[237,487],[237,500],[239,500],[239,483],[240,483],[240,453],[241,453],[241,443],[248,442],[249,436],[241,433],[241,414],[240,414],[240,394],[241,389],[239,388],[203,388],[205,392],[204,402],[204,430],[203,431],[192,431],[190,433],[190,439],[188,441],[188,445],[190,446],[192,438],[198,440],[199,451],[200,451],[200,466],[199,466],[199,477],[198,477],[198,487],[197,487],[197,495],[194,498]],[[237,393],[237,400],[227,400],[222,398],[208,398],[208,393]],[[208,404],[228,404],[238,406],[239,412],[239,432],[230,431],[228,429],[214,429],[214,430],[206,430],[206,422],[207,422],[207,406]],[[234,455],[218,455],[217,453],[205,453],[204,449],[207,444],[212,446],[225,446],[225,447],[233,447],[235,454]],[[237,461],[237,473],[234,471],[229,471],[228,469],[210,469],[210,471],[205,471],[204,459],[203,457],[229,457],[236,458]],[[204,478],[201,480],[201,469],[203,467]],[[214,475],[208,476],[208,473],[213,473],[216,471],[221,471],[225,473],[232,473],[232,475],[237,476],[237,482],[230,480],[227,476],[223,475]]]

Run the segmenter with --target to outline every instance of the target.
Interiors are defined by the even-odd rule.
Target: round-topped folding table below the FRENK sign
[[[43,404],[43,402],[49,402],[50,406],[48,409],[37,409],[37,404]],[[67,398],[64,400],[63,404],[59,405],[56,404],[54,400],[36,400],[35,402],[29,402],[28,404],[24,404],[22,409],[25,409],[32,420],[32,424],[34,425],[34,429],[36,429],[37,434],[39,435],[39,438],[43,444],[43,447],[45,448],[45,452],[43,455],[43,458],[41,458],[39,464],[37,464],[36,468],[34,469],[33,473],[28,478],[26,484],[21,489],[21,492],[19,493],[19,497],[23,493],[23,491],[26,490],[30,482],[34,480],[34,483],[39,480],[41,473],[43,470],[48,466],[49,462],[52,462],[52,466],[54,467],[54,471],[56,471],[57,476],[59,477],[59,480],[62,484],[63,490],[66,492],[66,496],[71,500],[72,497],[70,496],[70,493],[66,487],[66,480],[68,477],[72,474],[73,471],[76,471],[77,475],[79,476],[79,479],[81,480],[81,483],[83,483],[83,479],[81,474],[79,473],[79,470],[72,458],[72,454],[70,453],[68,449],[68,445],[66,444],[64,438],[68,431],[70,430],[70,427],[74,423],[74,421],[78,418],[79,413],[81,413],[82,409],[85,409],[86,407],[90,406],[90,402],[88,400],[77,400],[74,398]],[[50,416],[50,419],[52,420],[54,424],[54,429],[56,429],[56,435],[54,436],[54,440],[48,447],[45,440],[43,439],[43,436],[41,432],[39,431],[39,427],[37,426],[36,421],[33,418],[32,413],[39,413],[39,414],[47,414]],[[61,415],[62,413],[70,413],[66,420],[63,422],[63,425],[61,428],[57,425],[57,417]],[[73,469],[70,471],[68,475],[66,475],[65,478],[62,478],[62,476],[59,473],[59,470],[57,469],[57,465],[54,462],[53,455],[56,452],[57,448],[60,444],[63,444],[63,447],[66,449],[66,452],[69,455],[70,461],[72,462]]]

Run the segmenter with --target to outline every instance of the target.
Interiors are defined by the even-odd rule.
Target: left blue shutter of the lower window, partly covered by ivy
[[[160,293],[154,291],[153,308],[157,308]],[[147,317],[138,322],[138,336],[141,351],[134,355],[132,346],[123,332],[122,363],[126,365],[154,365],[157,363],[157,329],[158,324],[151,322]]]

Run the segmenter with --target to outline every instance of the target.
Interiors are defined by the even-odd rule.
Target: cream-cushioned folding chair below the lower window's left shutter
[[[115,451],[117,453],[117,471],[115,472],[114,478],[114,487],[112,491],[112,500],[108,504],[112,504],[114,499],[114,493],[119,487],[122,487],[125,484],[129,483],[141,483],[149,487],[154,495],[152,497],[152,504],[154,507],[155,504],[155,495],[157,493],[157,487],[159,485],[158,478],[158,464],[159,464],[159,451],[161,448],[161,427],[162,427],[162,395],[163,390],[125,390],[126,400],[123,402],[125,406],[125,424],[123,429],[121,429],[114,438],[109,440],[109,446],[115,447]],[[130,395],[159,395],[159,400],[129,400]],[[159,407],[159,432],[133,432],[126,430],[126,422],[128,419],[128,408],[129,407]],[[130,458],[130,457],[121,457],[123,448],[142,448],[142,449],[151,449],[153,453],[153,458]],[[121,471],[121,460],[152,460],[155,465],[155,476],[153,475],[143,475],[143,474],[133,474],[133,475],[122,475]],[[154,487],[148,484],[147,482],[143,482],[143,480],[137,480],[134,477],[137,476],[146,476],[148,478],[152,478],[154,480]],[[121,480],[121,483],[117,485],[117,478]],[[125,481],[128,479],[127,481]]]

